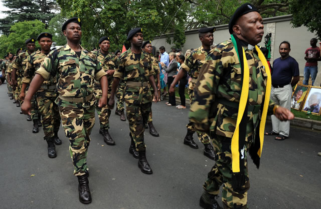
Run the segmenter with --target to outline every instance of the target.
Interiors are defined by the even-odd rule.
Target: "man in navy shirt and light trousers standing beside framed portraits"
[[[281,57],[273,61],[272,68],[272,88],[270,98],[276,104],[290,110],[292,86],[299,81],[299,65],[297,61],[289,55],[291,51],[290,43],[282,41],[279,46]],[[280,121],[274,115],[271,116],[272,130],[265,132],[265,135],[277,135],[276,140],[284,140],[289,136],[290,121]]]

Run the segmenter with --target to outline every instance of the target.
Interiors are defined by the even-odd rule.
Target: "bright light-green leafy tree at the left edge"
[[[37,38],[45,30],[45,24],[40,20],[16,22],[10,28],[10,34],[0,37],[0,57],[8,52],[16,53],[20,47],[25,48],[25,41],[28,38]],[[39,44],[36,41],[36,47]]]

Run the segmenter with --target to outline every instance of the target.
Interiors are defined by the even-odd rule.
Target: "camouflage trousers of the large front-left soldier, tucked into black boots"
[[[69,102],[59,97],[62,126],[69,138],[69,152],[74,164],[74,175],[84,175],[88,172],[87,151],[90,143],[90,133],[95,124],[95,99],[85,103]]]

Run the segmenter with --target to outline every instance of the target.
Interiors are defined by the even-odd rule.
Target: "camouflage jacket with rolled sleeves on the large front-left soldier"
[[[45,80],[57,77],[57,91],[62,96],[86,97],[93,94],[94,79],[106,73],[101,69],[97,57],[81,47],[81,55],[68,44],[51,51],[36,71]]]

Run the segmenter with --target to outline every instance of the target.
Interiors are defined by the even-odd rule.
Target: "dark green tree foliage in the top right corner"
[[[291,0],[290,12],[293,14],[292,24],[294,27],[304,25],[310,32],[315,32],[321,39],[321,4],[315,0]]]

